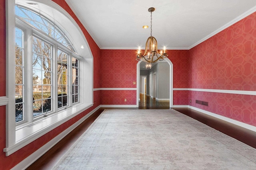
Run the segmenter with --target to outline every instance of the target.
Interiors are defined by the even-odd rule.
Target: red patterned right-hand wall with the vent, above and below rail
[[[256,13],[190,49],[189,66],[190,88],[256,91]],[[189,99],[191,106],[256,126],[256,96],[189,92]]]

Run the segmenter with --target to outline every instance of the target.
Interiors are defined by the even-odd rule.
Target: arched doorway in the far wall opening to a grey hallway
[[[152,63],[151,69],[143,68],[145,62],[137,64],[137,107],[154,109],[153,107],[173,107],[173,64],[169,59]],[[161,72],[162,71],[162,72]],[[141,76],[146,76],[141,79]],[[145,83],[146,82],[146,83]],[[165,84],[164,84],[165,83]],[[142,84],[146,92],[141,95]],[[164,91],[166,90],[166,91]],[[163,92],[164,91],[164,92]],[[144,95],[145,94],[145,95]]]

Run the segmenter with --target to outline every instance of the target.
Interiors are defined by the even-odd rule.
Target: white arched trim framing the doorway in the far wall
[[[170,59],[165,58],[166,61],[170,65],[170,107],[173,107],[173,64]],[[139,99],[140,99],[140,63],[144,61],[139,61],[137,63],[137,99],[136,99],[136,107],[139,107]]]

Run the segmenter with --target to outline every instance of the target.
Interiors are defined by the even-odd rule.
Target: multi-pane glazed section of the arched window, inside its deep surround
[[[74,53],[66,35],[42,15],[17,5],[15,14],[15,98],[19,125],[79,103],[81,57]]]

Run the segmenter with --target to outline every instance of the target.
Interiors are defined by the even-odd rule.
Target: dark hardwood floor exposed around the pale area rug
[[[161,107],[156,107],[162,109]],[[59,143],[52,147],[48,152],[41,156],[36,162],[30,165],[27,170],[50,170],[52,169],[62,158],[62,156],[68,151],[68,149],[76,142],[76,140],[88,129],[92,122],[104,111],[105,108],[98,109],[88,119],[81,123],[76,129],[64,137]],[[110,109],[110,108],[108,108]],[[114,108],[112,108],[114,109]],[[120,109],[120,108],[117,108]],[[136,109],[136,108],[133,108]],[[229,135],[247,145],[256,149],[256,132],[248,129],[233,125],[226,121],[214,118],[204,113],[200,113],[189,108],[173,108],[185,115],[188,115],[226,135]]]

